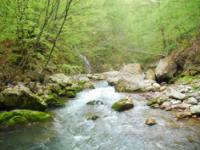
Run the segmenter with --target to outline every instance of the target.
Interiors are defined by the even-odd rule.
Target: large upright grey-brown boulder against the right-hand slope
[[[176,72],[177,65],[174,62],[173,57],[168,56],[159,61],[155,70],[156,80],[158,82],[168,82],[171,78],[174,77]]]

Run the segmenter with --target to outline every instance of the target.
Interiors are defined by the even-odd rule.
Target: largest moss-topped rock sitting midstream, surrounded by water
[[[125,111],[134,107],[133,100],[130,98],[124,98],[112,105],[112,109],[116,111]]]

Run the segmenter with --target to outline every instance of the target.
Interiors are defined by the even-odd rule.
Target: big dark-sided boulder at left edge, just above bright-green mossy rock
[[[44,110],[47,108],[45,101],[24,85],[6,88],[1,93],[0,103],[4,109]]]

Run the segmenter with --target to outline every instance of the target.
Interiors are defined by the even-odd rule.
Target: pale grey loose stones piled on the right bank
[[[152,95],[147,105],[167,111],[177,110],[177,118],[200,114],[200,92],[189,85],[171,85],[162,92]]]

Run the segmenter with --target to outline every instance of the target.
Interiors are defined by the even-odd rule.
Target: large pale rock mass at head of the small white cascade
[[[145,75],[140,64],[125,65],[120,71],[106,72],[104,76],[110,85],[115,86],[118,92],[160,90],[160,85],[154,80],[154,71],[148,70]]]

